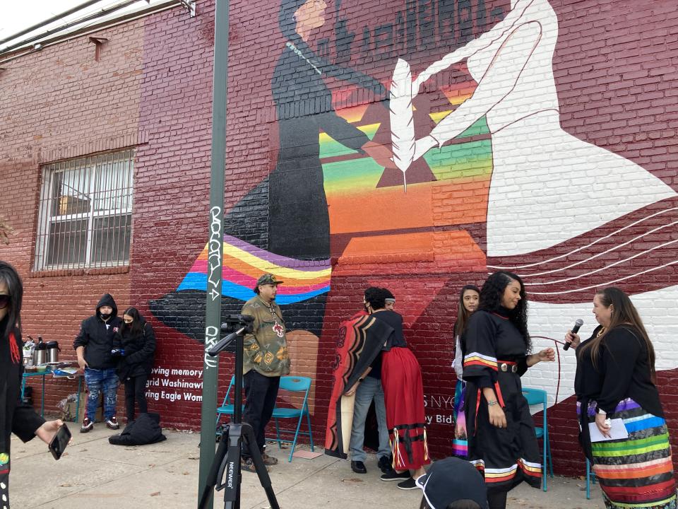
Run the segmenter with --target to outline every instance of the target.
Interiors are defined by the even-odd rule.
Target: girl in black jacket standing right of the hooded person
[[[118,376],[125,385],[127,423],[134,420],[134,403],[139,413],[148,412],[146,406],[146,381],[153,368],[155,334],[153,327],[139,315],[136,308],[127,308],[122,315],[123,325],[114,344],[124,352],[118,364]]]

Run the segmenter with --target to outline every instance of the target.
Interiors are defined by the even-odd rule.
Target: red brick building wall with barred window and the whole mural
[[[398,298],[422,365],[432,453],[448,455],[458,291],[496,267],[528,283],[540,347],[578,317],[590,333],[594,288],[631,293],[675,436],[670,2],[328,4],[309,14],[316,28],[299,43],[284,16],[278,23],[280,2],[232,1],[228,78],[224,308],[237,310],[264,268],[288,281],[283,312],[302,331],[290,341],[294,373],[315,380],[316,441],[338,324],[377,284]],[[0,55],[0,215],[15,229],[0,257],[23,275],[24,332],[74,357],[102,293],[119,309],[134,305],[158,338],[150,405],[179,428],[200,416],[213,8],[198,1],[191,17],[175,6]],[[521,20],[538,25],[535,45],[482,44]],[[407,171],[384,170],[356,140],[391,147],[399,121],[385,99],[398,59],[416,77],[446,55],[451,65],[432,71],[412,113],[415,139],[448,119],[444,143]],[[222,360],[220,395],[231,370]],[[525,380],[555,404],[554,464],[570,473],[583,470],[573,373],[571,352],[559,351]],[[73,387],[49,383],[47,409]]]

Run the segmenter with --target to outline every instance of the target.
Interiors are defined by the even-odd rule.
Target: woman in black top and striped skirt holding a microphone
[[[606,508],[676,507],[669,433],[655,386],[655,351],[633,303],[619,288],[595,294],[599,323],[576,347],[574,388],[580,442]],[[614,438],[612,438],[614,437]]]

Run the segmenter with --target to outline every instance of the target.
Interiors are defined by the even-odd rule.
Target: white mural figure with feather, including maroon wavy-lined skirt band
[[[492,141],[487,269],[523,277],[533,303],[530,331],[550,332],[553,324],[590,317],[595,289],[610,285],[633,295],[648,324],[661,324],[664,312],[656,302],[678,298],[672,267],[678,263],[677,194],[631,160],[561,129],[552,71],[557,37],[557,16],[547,0],[513,0],[501,22],[416,78],[400,59],[391,86],[394,160],[407,175],[413,161],[484,119]],[[418,90],[462,61],[477,87],[429,134],[416,138],[412,101]],[[581,193],[590,197],[590,206],[571,206],[567,197]],[[548,218],[547,228],[540,227],[540,218]],[[638,269],[640,257],[651,264]],[[571,376],[573,356],[563,362]],[[674,353],[658,356],[658,369],[677,366]],[[544,388],[559,400],[573,393],[571,384],[559,393],[555,386]]]

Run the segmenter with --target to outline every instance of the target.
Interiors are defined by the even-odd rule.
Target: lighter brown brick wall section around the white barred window
[[[142,24],[95,35],[108,39],[98,62],[95,45],[78,37],[6,64],[1,78],[0,175],[6,197],[0,213],[15,233],[10,245],[0,246],[0,258],[23,276],[23,333],[59,341],[66,359],[75,358],[80,322],[93,314],[103,293],[112,293],[121,310],[131,304],[128,269],[32,271],[41,165],[134,147],[141,140]],[[31,385],[39,404],[40,386]],[[48,380],[46,411],[75,390],[76,382]]]

